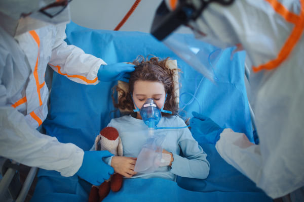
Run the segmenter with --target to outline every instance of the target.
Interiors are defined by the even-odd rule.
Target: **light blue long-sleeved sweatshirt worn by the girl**
[[[161,127],[181,127],[186,126],[184,121],[175,116],[162,117],[157,126]],[[173,123],[172,123],[173,122]],[[142,120],[132,116],[123,116],[112,119],[108,124],[116,128],[122,139],[124,157],[136,158],[141,150],[141,146],[148,137],[148,126]],[[164,149],[173,154],[172,166],[159,167],[154,173],[137,173],[131,178],[163,178],[176,181],[176,175],[188,178],[205,179],[209,174],[210,164],[206,160],[206,153],[198,142],[192,137],[188,128],[183,129],[160,129],[155,130],[155,134],[167,133],[164,142]],[[179,156],[182,151],[183,157]],[[105,158],[104,162],[111,165],[112,157]],[[130,178],[128,178],[130,179]]]

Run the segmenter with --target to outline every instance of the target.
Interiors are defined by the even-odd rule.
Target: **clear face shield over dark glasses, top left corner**
[[[10,35],[18,36],[50,24],[60,26],[70,21],[68,3],[62,0],[0,1],[0,26]]]

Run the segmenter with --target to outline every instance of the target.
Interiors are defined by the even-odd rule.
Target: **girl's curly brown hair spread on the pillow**
[[[132,62],[132,64],[135,65],[135,70],[130,75],[129,92],[125,92],[125,90],[118,85],[112,88],[112,99],[114,107],[117,109],[119,108],[121,110],[133,112],[135,108],[131,93],[133,93],[134,90],[134,83],[136,81],[156,81],[164,84],[165,92],[167,93],[164,110],[172,112],[172,114],[162,112],[162,116],[168,117],[176,115],[178,113],[178,106],[176,106],[175,91],[177,89],[175,85],[176,81],[174,81],[174,76],[180,72],[180,69],[170,69],[168,67],[168,62],[171,61],[169,57],[162,60],[154,56],[148,60],[149,56],[147,56],[146,59],[144,59],[143,56],[138,56],[137,59]],[[118,103],[115,102],[115,98],[113,96],[115,90],[120,92]]]

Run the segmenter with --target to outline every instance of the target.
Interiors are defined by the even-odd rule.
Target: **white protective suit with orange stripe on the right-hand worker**
[[[169,4],[168,4],[169,2]],[[174,2],[167,1],[173,9]],[[216,149],[272,198],[304,186],[304,0],[235,0],[208,5],[198,39],[243,47],[253,66],[251,104],[260,144],[225,129]]]

